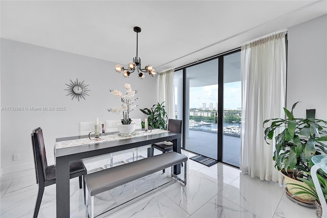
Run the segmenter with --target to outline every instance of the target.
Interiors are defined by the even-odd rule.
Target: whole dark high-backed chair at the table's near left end
[[[39,185],[39,190],[37,194],[34,215],[36,218],[42,197],[44,192],[44,187],[56,184],[56,166],[50,165],[48,166],[48,162],[46,161],[45,155],[45,146],[43,140],[43,133],[40,127],[33,130],[31,134],[32,139],[32,147],[34,154],[34,165],[35,165],[35,175],[36,175],[36,183]],[[70,178],[79,177],[80,188],[82,188],[82,176],[86,174],[86,169],[82,161],[73,161],[70,165]],[[83,178],[84,181],[84,178]],[[85,181],[84,181],[84,203],[85,203]]]

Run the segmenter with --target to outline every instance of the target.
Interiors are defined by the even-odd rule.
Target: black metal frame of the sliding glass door
[[[182,73],[183,73],[183,100],[182,100],[183,125],[182,125],[182,133],[185,133],[186,127],[188,127],[188,126],[184,125],[184,120],[186,120],[186,113],[189,113],[189,112],[185,112],[185,108],[186,108],[186,99],[185,99],[185,96],[186,96],[186,90],[185,90],[185,87],[186,87],[186,68],[195,66],[195,65],[200,64],[200,63],[204,63],[206,61],[218,59],[218,72],[217,72],[218,73],[218,82],[217,82],[217,84],[218,84],[218,108],[217,108],[217,111],[218,111],[218,119],[217,119],[218,120],[218,134],[217,134],[217,137],[218,137],[218,143],[217,143],[217,146],[218,146],[217,150],[218,151],[217,152],[218,152],[218,154],[217,154],[217,160],[218,160],[218,162],[223,162],[224,56],[230,55],[230,54],[233,54],[233,53],[236,53],[236,52],[240,52],[240,51],[241,51],[241,48],[233,49],[233,50],[230,50],[228,52],[224,52],[224,53],[221,53],[221,54],[209,57],[209,58],[205,58],[203,60],[199,60],[197,62],[187,64],[185,66],[182,66],[182,67],[179,67],[179,68],[175,69],[175,71],[182,70]],[[185,149],[185,134],[182,134],[182,145],[181,145],[181,147],[183,149]]]

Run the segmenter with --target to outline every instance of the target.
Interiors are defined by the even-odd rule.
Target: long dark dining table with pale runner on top
[[[104,133],[100,138],[73,136],[57,138],[54,146],[56,164],[56,212],[57,217],[69,217],[69,162],[110,154],[116,151],[171,141],[173,151],[181,152],[181,134],[163,129],[144,131],[140,129],[130,136],[119,133]],[[175,165],[174,174],[180,174],[180,165]]]

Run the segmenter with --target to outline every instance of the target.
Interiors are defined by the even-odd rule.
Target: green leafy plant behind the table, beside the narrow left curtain
[[[165,106],[158,102],[154,104],[150,109],[144,108],[140,109],[144,114],[148,115],[148,125],[152,128],[160,128],[167,130],[167,113],[165,111]],[[144,127],[144,122],[142,122],[142,127]]]

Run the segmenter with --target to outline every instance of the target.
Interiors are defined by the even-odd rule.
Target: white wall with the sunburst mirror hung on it
[[[114,51],[112,51],[114,52]],[[131,57],[132,58],[132,57]],[[130,60],[126,60],[126,63]],[[80,121],[121,119],[122,115],[107,112],[120,106],[109,89],[125,92],[130,83],[138,90],[138,108],[151,107],[157,102],[157,77],[130,78],[114,71],[116,63],[1,39],[1,107],[65,107],[65,111],[1,111],[1,165],[3,173],[33,168],[31,132],[43,129],[46,156],[54,162],[56,138],[78,135]],[[76,79],[89,84],[86,100],[71,100],[66,96],[65,83]],[[138,109],[133,118],[145,118]],[[20,160],[13,161],[13,154]]]

